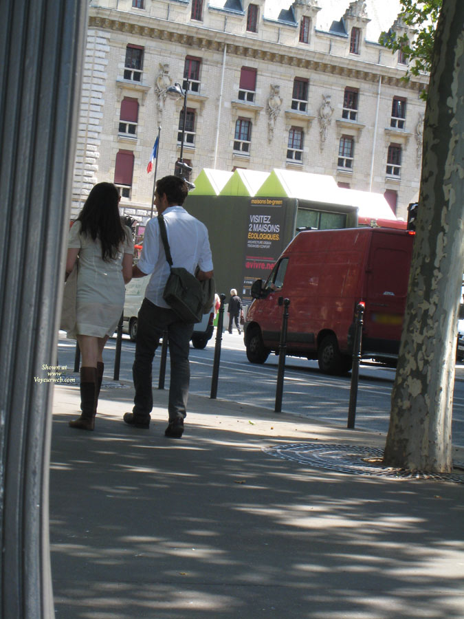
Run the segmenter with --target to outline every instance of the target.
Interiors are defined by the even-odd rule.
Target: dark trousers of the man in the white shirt
[[[170,355],[169,421],[186,417],[190,384],[190,338],[193,325],[179,321],[173,310],[158,307],[144,298],[137,318],[137,341],[132,376],[135,387],[133,415],[140,422],[149,421],[153,409],[152,364],[159,338],[168,330]]]

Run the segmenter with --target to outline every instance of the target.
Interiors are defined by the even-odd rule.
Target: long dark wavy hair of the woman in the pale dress
[[[106,262],[115,258],[120,244],[126,238],[126,231],[119,214],[119,194],[113,183],[94,185],[80,211],[80,231],[98,238],[102,246],[102,259]]]

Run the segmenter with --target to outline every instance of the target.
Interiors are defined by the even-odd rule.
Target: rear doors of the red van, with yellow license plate
[[[413,238],[407,232],[373,231],[366,269],[363,354],[398,354]]]

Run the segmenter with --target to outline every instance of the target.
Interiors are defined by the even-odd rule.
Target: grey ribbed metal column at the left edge
[[[53,618],[48,468],[86,0],[0,0],[0,616]]]

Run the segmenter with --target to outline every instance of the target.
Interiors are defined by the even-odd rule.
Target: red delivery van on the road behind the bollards
[[[355,310],[366,303],[362,355],[393,360],[399,351],[414,232],[345,228],[300,232],[267,281],[252,286],[245,322],[247,358],[278,351],[289,298],[287,354],[317,359],[329,374],[351,369]]]

